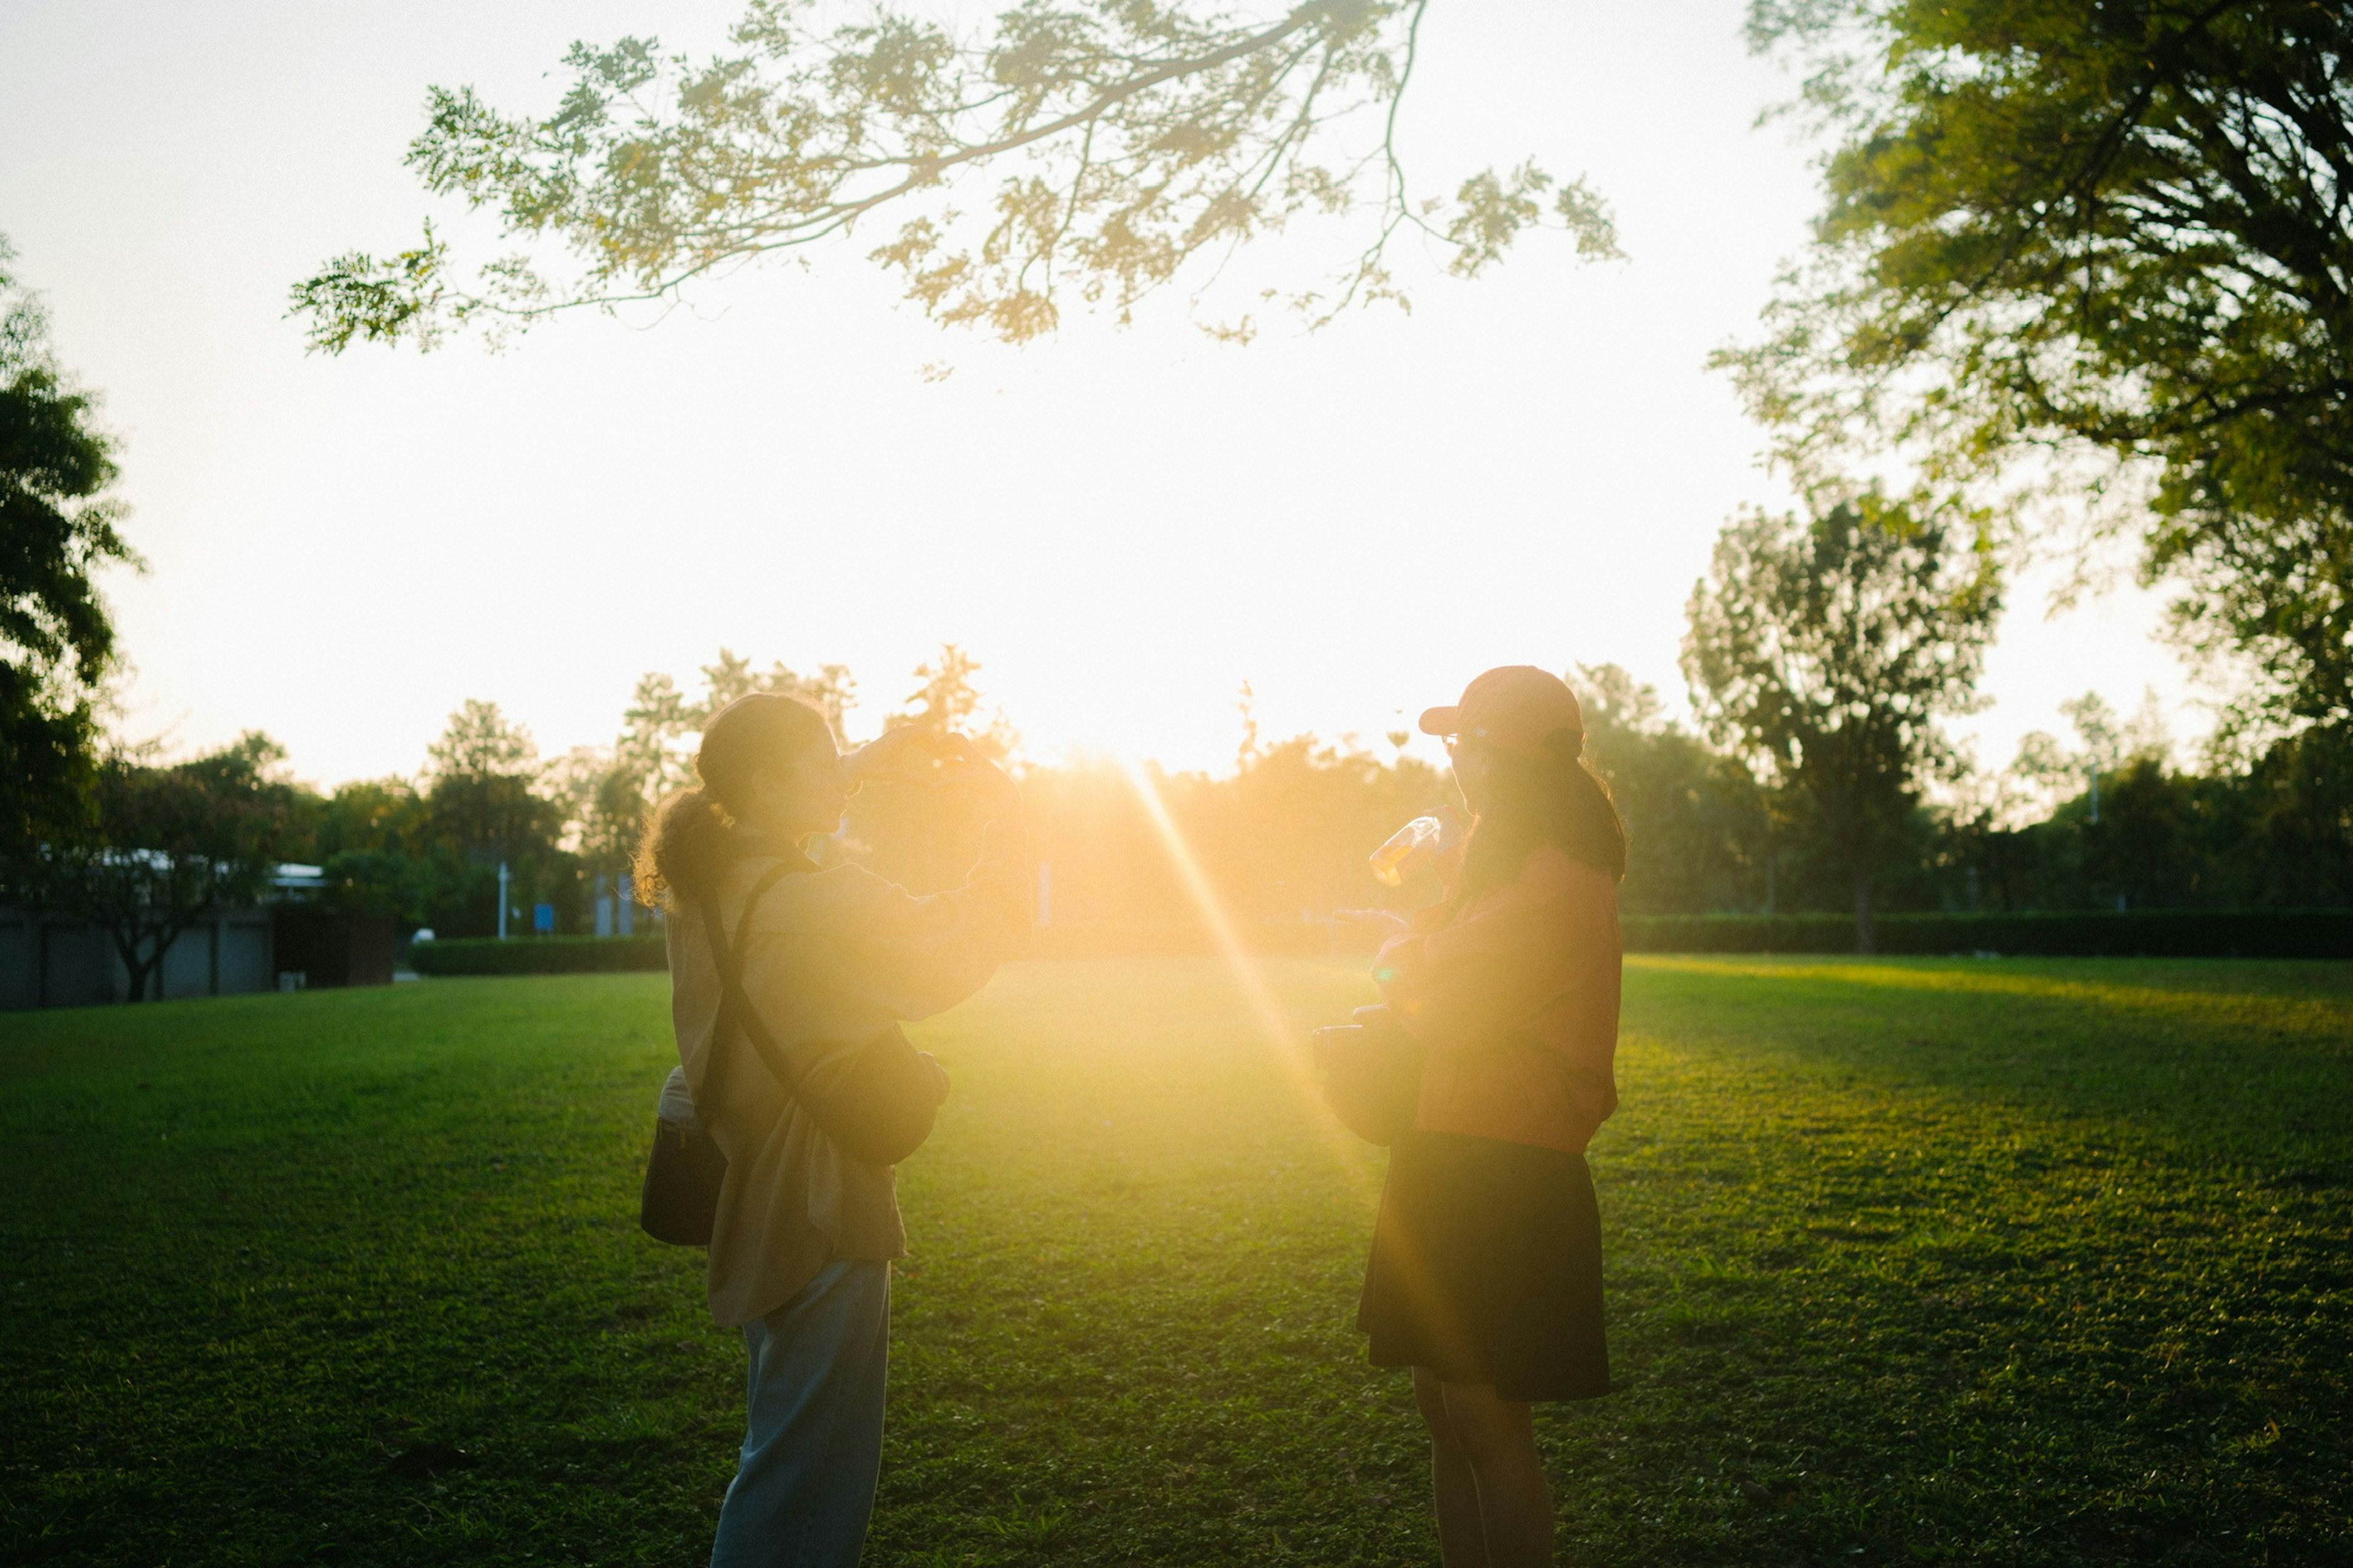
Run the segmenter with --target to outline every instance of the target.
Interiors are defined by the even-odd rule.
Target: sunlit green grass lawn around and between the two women
[[[1365,999],[1266,966],[1287,1023]],[[1562,1561],[2353,1561],[2353,966],[1631,959]],[[664,976],[0,1016],[0,1561],[696,1563]],[[1381,1152],[1214,961],[918,1030],[868,1563],[1435,1563]]]

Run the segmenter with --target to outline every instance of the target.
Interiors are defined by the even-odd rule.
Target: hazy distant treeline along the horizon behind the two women
[[[1002,719],[976,719],[976,668],[946,649],[889,722],[958,724],[1012,750]],[[732,656],[704,675],[694,701],[666,677],[647,677],[614,748],[553,764],[541,764],[527,733],[494,705],[468,703],[419,778],[362,780],[332,795],[273,785],[282,792],[278,849],[320,863],[336,905],[440,936],[496,929],[496,867],[506,863],[511,931],[529,926],[529,905],[548,903],[558,933],[586,933],[600,879],[616,886],[645,809],[687,778],[692,741],[718,703],[788,689],[838,717],[852,691],[845,670],[755,672]],[[1586,701],[1588,755],[1626,816],[1628,914],[1849,910],[1849,870],[1795,802],[1666,719],[1657,693],[1624,670],[1584,668],[1569,679]],[[2118,724],[2097,701],[2071,710],[2078,736],[2068,745],[2031,736],[2005,773],[1915,806],[1901,853],[1880,875],[1880,910],[2353,905],[2353,769],[2322,755],[2325,736],[2282,741],[2247,766],[2184,771],[2146,719]],[[1452,804],[1447,776],[1405,755],[1402,736],[1379,750],[1311,736],[1268,743],[1247,712],[1235,766],[1224,773],[1113,762],[1028,762],[1016,773],[1035,853],[1052,867],[1056,926],[1195,929],[1205,919],[1195,886],[1205,886],[1224,919],[1257,943],[1315,926],[1334,907],[1431,898],[1426,882],[1381,889],[1365,856],[1412,816]],[[960,820],[953,802],[868,788],[852,802],[842,839],[821,851],[922,891],[960,879],[972,844],[974,823]],[[1318,940],[1301,933],[1304,947]]]

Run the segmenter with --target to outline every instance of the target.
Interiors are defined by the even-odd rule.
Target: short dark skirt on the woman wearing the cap
[[[1607,1394],[1586,1157],[1407,1133],[1388,1157],[1355,1326],[1374,1366],[1426,1366],[1511,1401]]]

